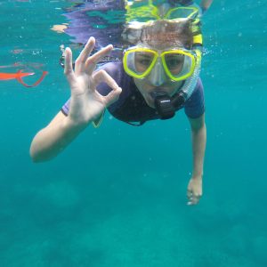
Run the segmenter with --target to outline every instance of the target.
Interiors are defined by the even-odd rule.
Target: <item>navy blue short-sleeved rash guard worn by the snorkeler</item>
[[[125,73],[121,61],[109,62],[102,66],[101,69],[106,70],[109,76],[122,88],[119,99],[108,108],[114,117],[127,123],[140,124],[159,118],[156,109],[150,108],[142,97],[142,94],[134,84],[134,78],[129,77]],[[97,91],[102,95],[107,95],[111,91],[111,88],[109,85],[101,83],[97,86]],[[183,108],[185,114],[190,118],[200,117],[205,112],[204,91],[200,78],[190,98],[185,101]],[[63,105],[61,111],[64,115],[68,116],[69,101]]]

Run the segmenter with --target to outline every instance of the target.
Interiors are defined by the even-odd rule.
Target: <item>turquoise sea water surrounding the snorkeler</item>
[[[266,1],[214,1],[206,13],[198,206],[186,206],[183,112],[142,127],[107,115],[58,158],[31,162],[33,136],[69,97],[58,64],[69,36],[50,29],[68,5],[0,1],[0,65],[49,71],[33,89],[0,81],[0,266],[267,266]]]

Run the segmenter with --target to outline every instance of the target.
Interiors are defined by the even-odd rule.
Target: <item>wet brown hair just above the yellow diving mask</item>
[[[193,44],[192,20],[149,21],[142,27],[128,28],[126,37],[130,44],[158,44],[190,49]]]

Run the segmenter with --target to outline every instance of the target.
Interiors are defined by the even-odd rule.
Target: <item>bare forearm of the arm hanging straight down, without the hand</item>
[[[206,125],[192,129],[193,174],[192,177],[202,177],[206,150]]]

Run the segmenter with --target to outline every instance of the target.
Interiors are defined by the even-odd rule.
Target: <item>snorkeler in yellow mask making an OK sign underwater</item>
[[[123,61],[109,62],[96,69],[112,45],[92,53],[91,37],[77,58],[66,49],[65,75],[70,99],[51,123],[31,143],[35,162],[57,156],[88,125],[99,125],[105,109],[117,119],[142,125],[148,120],[174,116],[184,109],[190,121],[193,171],[188,185],[188,204],[202,196],[202,175],[206,149],[203,86],[198,77],[201,53],[195,45],[194,21],[155,20],[142,24],[142,35],[124,52]],[[133,28],[129,29],[133,33]],[[127,36],[127,35],[125,35]],[[133,36],[133,35],[132,35]],[[198,40],[198,38],[197,38]]]

